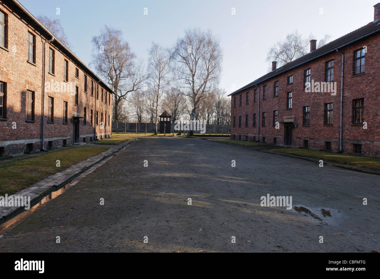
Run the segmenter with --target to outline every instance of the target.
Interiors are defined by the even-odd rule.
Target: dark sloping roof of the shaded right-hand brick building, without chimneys
[[[273,78],[277,75],[280,75],[284,72],[287,72],[288,70],[291,70],[293,68],[296,68],[302,64],[306,64],[314,59],[317,59],[321,56],[325,56],[331,52],[334,52],[336,51],[336,49],[340,49],[346,45],[349,45],[355,41],[358,41],[358,40],[361,40],[367,36],[370,36],[374,33],[377,33],[380,31],[380,20],[377,20],[377,21],[373,21],[373,22],[370,22],[369,24],[367,24],[366,26],[363,26],[359,29],[356,29],[355,31],[351,32],[351,33],[348,33],[340,38],[337,38],[336,40],[334,41],[331,41],[330,43],[324,45],[324,46],[321,46],[320,48],[317,48],[316,50],[308,53],[308,54],[305,54],[304,56],[294,60],[294,61],[291,61],[285,65],[283,65],[282,67],[279,67],[278,69],[272,71],[272,72],[269,72],[267,73],[266,75],[263,75],[262,77],[252,81],[251,83],[243,86],[242,88],[232,92],[230,95],[228,96],[231,96],[231,95],[234,95],[236,93],[239,93],[239,92],[242,92],[244,91],[245,89],[247,88],[250,88],[252,86],[255,86],[255,84],[258,84],[258,83],[261,83],[263,81],[266,81],[268,80],[269,78]]]

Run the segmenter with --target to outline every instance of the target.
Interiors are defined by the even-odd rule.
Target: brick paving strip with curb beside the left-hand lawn
[[[22,189],[16,194],[10,196],[30,196],[30,208],[35,206],[43,198],[48,195],[51,195],[52,192],[59,190],[64,187],[67,183],[71,182],[73,179],[105,160],[106,158],[114,155],[116,152],[125,148],[127,145],[130,145],[136,139],[128,140],[126,143],[120,144],[118,147],[110,147],[108,150],[87,158],[79,163],[76,163],[63,171],[57,172],[55,174],[49,175],[44,179],[32,184],[30,187]],[[24,207],[4,207],[0,206],[0,224],[8,221],[17,214],[23,212]]]

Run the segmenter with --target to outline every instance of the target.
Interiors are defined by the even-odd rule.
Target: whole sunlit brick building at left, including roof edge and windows
[[[0,156],[109,137],[114,92],[16,0],[0,0]]]

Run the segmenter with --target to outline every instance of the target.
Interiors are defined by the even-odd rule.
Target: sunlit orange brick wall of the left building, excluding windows
[[[6,2],[6,1],[5,1]],[[11,5],[0,1],[0,10],[6,14],[7,40],[6,48],[0,48],[0,81],[6,84],[5,118],[0,118],[0,147],[4,147],[5,155],[22,153],[27,143],[33,143],[33,150],[41,148],[42,135],[42,72],[43,72],[43,42],[49,40],[47,34],[36,30],[30,24],[30,19],[20,20],[17,10],[11,10]],[[37,27],[36,27],[37,28]],[[35,63],[27,61],[28,32],[35,35]],[[49,48],[55,52],[54,73],[49,73]],[[68,61],[68,80],[64,81],[64,60]],[[76,78],[76,68],[79,77]],[[84,92],[84,76],[87,75],[87,92]],[[89,71],[82,64],[75,62],[57,41],[46,44],[46,76],[45,76],[45,148],[47,142],[52,141],[53,146],[60,146],[64,139],[67,144],[73,142],[73,116],[84,116],[84,107],[87,110],[86,124],[79,118],[79,142],[94,137],[94,126],[90,124],[90,110],[93,110],[93,124],[95,125],[96,111],[98,111],[98,125],[95,125],[96,136],[105,137],[111,134],[111,98],[109,89],[101,86],[94,80]],[[91,81],[94,84],[91,96]],[[53,85],[48,86],[47,83]],[[63,86],[66,86],[63,88]],[[78,105],[75,105],[75,86],[79,88]],[[96,98],[95,89],[99,87],[99,99]],[[74,92],[71,92],[71,88]],[[63,89],[63,90],[62,90]],[[103,89],[103,102],[101,90]],[[34,119],[27,121],[26,94],[27,90],[34,92]],[[107,96],[107,104],[105,98]],[[48,121],[49,98],[54,98],[53,121]],[[68,121],[63,123],[63,102],[68,104]],[[96,107],[96,108],[95,108]],[[104,129],[100,126],[101,113],[103,113]],[[108,116],[110,123],[108,124]],[[16,129],[13,129],[16,128]],[[95,137],[96,137],[95,136]]]

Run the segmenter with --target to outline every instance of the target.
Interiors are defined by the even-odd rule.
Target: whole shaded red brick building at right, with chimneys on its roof
[[[380,156],[380,3],[374,21],[231,93],[231,138]],[[342,66],[343,65],[343,66]]]

